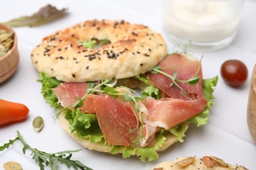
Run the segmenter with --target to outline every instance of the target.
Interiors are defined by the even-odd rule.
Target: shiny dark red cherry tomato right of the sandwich
[[[242,61],[230,59],[221,65],[221,76],[226,84],[238,87],[247,80],[248,70]]]

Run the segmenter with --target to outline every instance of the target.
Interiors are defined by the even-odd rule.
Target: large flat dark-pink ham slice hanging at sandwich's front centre
[[[132,146],[138,137],[135,114],[109,95],[88,95],[93,97],[98,125],[110,144]],[[138,129],[138,130],[137,130]]]

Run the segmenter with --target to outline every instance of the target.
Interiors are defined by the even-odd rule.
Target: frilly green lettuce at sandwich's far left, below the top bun
[[[58,107],[60,107],[60,103],[58,102],[56,95],[53,93],[53,89],[56,88],[56,86],[58,86],[61,82],[43,72],[39,74],[37,81],[41,82],[42,84],[41,93],[43,94],[46,102],[49,103],[51,107],[58,109]]]

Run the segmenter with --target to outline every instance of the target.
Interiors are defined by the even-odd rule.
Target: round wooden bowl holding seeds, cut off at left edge
[[[5,29],[7,32],[13,31],[13,29],[7,25],[0,24],[0,29]],[[7,54],[3,57],[0,57],[0,84],[7,80],[18,66],[18,61],[20,59],[20,55],[18,54],[17,48],[17,37],[14,33],[14,42],[11,50],[7,52]]]

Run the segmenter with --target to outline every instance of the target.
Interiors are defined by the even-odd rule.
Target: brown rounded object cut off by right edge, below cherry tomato
[[[247,105],[247,124],[251,137],[256,144],[256,64],[253,69],[253,74],[251,75],[251,84]]]

